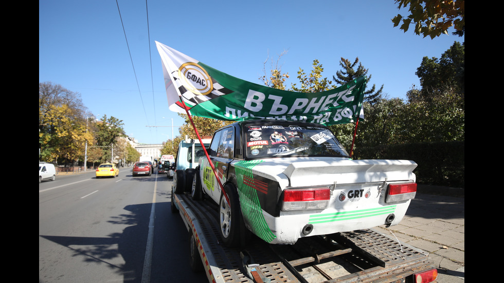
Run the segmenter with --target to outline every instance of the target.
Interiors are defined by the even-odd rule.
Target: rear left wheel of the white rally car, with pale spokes
[[[225,185],[224,190],[229,198],[229,203],[224,197],[224,194],[221,193],[221,199],[219,201],[219,231],[225,246],[238,247],[242,229],[245,229],[240,212],[238,192],[236,187],[231,184]]]

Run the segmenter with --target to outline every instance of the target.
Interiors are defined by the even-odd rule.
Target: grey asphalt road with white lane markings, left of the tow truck
[[[131,168],[116,178],[89,172],[40,183],[39,283],[206,282],[190,270],[171,183],[133,178]]]

